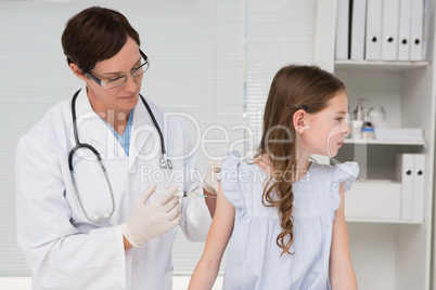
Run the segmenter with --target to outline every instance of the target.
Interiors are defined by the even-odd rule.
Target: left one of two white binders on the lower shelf
[[[397,170],[401,181],[401,219],[413,219],[413,155],[399,154],[397,158]]]

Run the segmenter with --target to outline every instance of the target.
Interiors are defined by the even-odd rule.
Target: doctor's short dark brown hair
[[[82,72],[89,72],[95,63],[117,54],[128,37],[140,45],[137,30],[121,13],[91,6],[68,19],[62,47],[68,65],[74,63]]]

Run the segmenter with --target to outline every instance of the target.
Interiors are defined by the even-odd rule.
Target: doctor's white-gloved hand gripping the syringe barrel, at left
[[[123,224],[123,235],[133,247],[145,240],[162,236],[180,223],[179,197],[174,196],[179,188],[172,185],[165,193],[145,205],[156,189],[156,184],[146,188],[134,201],[129,221]]]

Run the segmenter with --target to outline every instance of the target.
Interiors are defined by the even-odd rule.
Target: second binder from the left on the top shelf
[[[350,60],[364,60],[364,22],[367,0],[354,0],[351,5]]]

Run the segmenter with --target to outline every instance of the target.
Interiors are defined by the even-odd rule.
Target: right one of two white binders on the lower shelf
[[[413,171],[413,220],[424,220],[425,155],[414,155]]]

